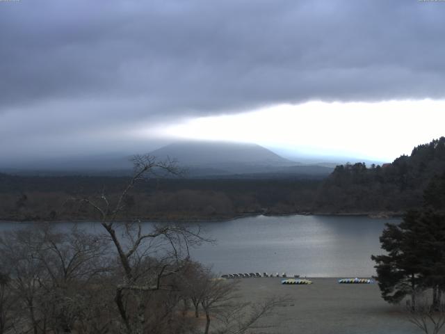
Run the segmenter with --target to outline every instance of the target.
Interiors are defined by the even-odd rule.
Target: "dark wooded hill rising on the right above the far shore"
[[[421,206],[423,190],[443,173],[445,137],[419,145],[391,164],[337,166],[323,183],[316,207],[327,212],[403,212]]]

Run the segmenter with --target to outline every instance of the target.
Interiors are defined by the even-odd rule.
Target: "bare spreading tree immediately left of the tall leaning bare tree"
[[[51,315],[53,331],[71,333],[83,317],[85,287],[109,270],[106,243],[76,226],[70,233],[53,232],[49,226],[42,232],[42,247],[34,254],[49,276],[42,282],[44,310]]]

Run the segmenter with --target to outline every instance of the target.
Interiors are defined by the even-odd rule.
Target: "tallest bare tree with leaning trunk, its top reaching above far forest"
[[[115,289],[115,304],[127,333],[143,333],[150,317],[146,295],[160,290],[172,290],[164,284],[164,278],[179,273],[181,262],[188,257],[188,249],[207,241],[199,228],[185,225],[158,224],[149,231],[143,230],[139,221],[118,222],[125,209],[126,198],[137,182],[147,177],[177,175],[175,161],[158,161],[149,155],[133,158],[134,172],[118,199],[113,202],[103,191],[97,199],[74,199],[85,203],[99,213],[101,224],[113,243],[122,269],[122,282]],[[150,262],[150,258],[156,261]],[[148,260],[147,260],[148,259]],[[156,265],[153,265],[156,264]],[[132,300],[136,308],[131,308]],[[148,314],[147,314],[148,312]]]

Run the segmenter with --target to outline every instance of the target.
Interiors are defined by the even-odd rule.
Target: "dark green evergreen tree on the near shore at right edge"
[[[445,215],[424,208],[405,214],[398,224],[387,224],[380,237],[387,255],[373,255],[382,297],[398,303],[432,289],[432,307],[438,308],[445,289]]]

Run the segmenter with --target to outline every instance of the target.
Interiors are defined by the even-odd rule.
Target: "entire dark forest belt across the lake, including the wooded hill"
[[[419,145],[391,164],[337,166],[318,177],[155,179],[124,198],[120,218],[221,219],[244,214],[398,214],[419,207],[428,184],[445,173],[445,138]],[[435,179],[436,178],[436,179]],[[442,180],[442,179],[441,179]],[[0,174],[0,218],[97,218],[72,198],[117,198],[128,177],[36,177]]]

